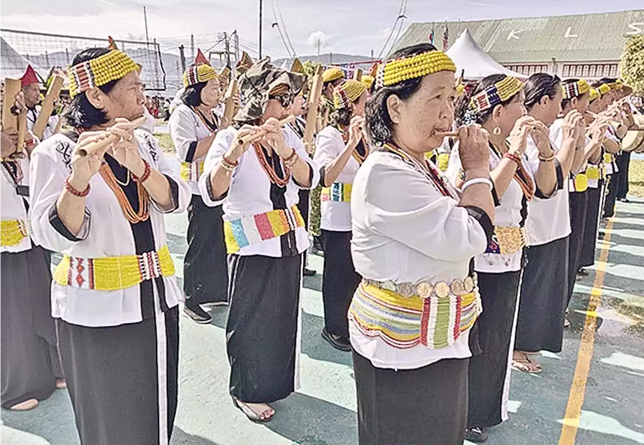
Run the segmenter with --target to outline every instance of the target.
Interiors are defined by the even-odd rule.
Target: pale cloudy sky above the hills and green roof
[[[341,52],[375,55],[383,48],[399,12],[399,0],[264,0],[264,52],[285,57],[277,28],[272,28],[277,2],[290,41],[298,55]],[[237,29],[242,49],[256,56],[259,0],[19,0],[3,1],[0,28],[38,32],[141,39],[145,36],[143,6],[149,35],[162,50],[189,44],[208,48],[217,33]],[[412,22],[538,17],[542,15],[610,12],[616,3],[598,0],[408,0],[403,31]],[[642,8],[642,0],[624,0],[620,10]],[[440,36],[440,28],[437,27]],[[395,35],[395,34],[394,34]],[[440,38],[440,37],[439,37]]]

